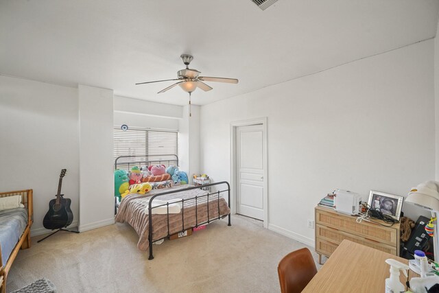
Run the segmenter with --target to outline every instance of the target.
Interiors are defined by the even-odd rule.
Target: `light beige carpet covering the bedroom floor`
[[[280,292],[278,261],[305,247],[239,215],[232,226],[219,220],[189,237],[154,245],[151,261],[137,249],[139,237],[128,224],[59,232],[37,244],[42,237],[20,250],[8,292],[43,277],[61,293]]]

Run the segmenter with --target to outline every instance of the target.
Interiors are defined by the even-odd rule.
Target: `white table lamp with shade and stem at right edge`
[[[412,202],[423,209],[431,211],[431,217],[436,218],[436,214],[439,212],[439,182],[426,181],[420,183],[420,185],[413,187],[410,190],[405,202]],[[438,225],[437,221],[434,221],[433,232],[433,247],[434,247],[434,261],[438,262]]]

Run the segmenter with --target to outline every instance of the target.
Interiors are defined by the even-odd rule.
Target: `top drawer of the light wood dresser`
[[[396,249],[396,244],[398,243],[397,237],[399,236],[398,229],[370,224],[365,221],[358,223],[356,219],[357,218],[350,215],[341,215],[340,213],[316,209],[316,225],[320,224],[321,226],[334,228],[337,231],[357,235],[361,238],[369,239],[372,242],[388,244],[389,246],[394,246]]]

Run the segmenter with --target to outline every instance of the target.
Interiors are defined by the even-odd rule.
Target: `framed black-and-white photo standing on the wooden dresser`
[[[384,215],[399,221],[401,209],[403,207],[403,196],[394,196],[383,192],[371,190],[368,204],[370,209],[378,209]]]

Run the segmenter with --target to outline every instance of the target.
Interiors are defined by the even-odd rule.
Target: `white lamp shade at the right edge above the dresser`
[[[439,211],[438,185],[439,183],[436,181],[420,183],[410,190],[405,202],[412,202],[431,211]]]

